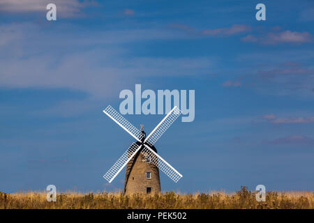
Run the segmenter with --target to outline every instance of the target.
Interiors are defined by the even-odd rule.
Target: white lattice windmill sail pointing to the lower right
[[[182,175],[174,169],[167,161],[165,161],[160,155],[155,153],[149,146],[144,145],[145,147],[142,149],[141,153],[145,157],[149,157],[151,163],[155,164],[161,171],[163,171],[167,176],[170,177],[175,183],[180,180]]]

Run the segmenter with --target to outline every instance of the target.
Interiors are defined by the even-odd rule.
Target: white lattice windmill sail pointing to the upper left
[[[103,113],[105,113],[107,116],[109,116],[113,121],[115,121],[118,125],[121,126],[126,132],[128,132],[131,136],[133,136],[137,141],[141,141],[143,134],[140,130],[135,128],[126,118],[121,116],[119,112],[114,110],[113,107],[108,105],[104,110]]]

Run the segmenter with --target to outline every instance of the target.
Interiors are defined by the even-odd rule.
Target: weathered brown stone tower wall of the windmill
[[[153,149],[156,151],[156,148]],[[147,172],[151,173],[150,179],[147,179]],[[147,187],[151,187],[151,193],[160,192],[159,169],[154,164],[147,163],[146,157],[139,151],[126,166],[124,192],[126,194],[146,194]]]

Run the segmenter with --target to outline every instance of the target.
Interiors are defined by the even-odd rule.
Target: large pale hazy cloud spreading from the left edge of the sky
[[[207,58],[130,56],[126,43],[174,38],[163,31],[91,31],[81,35],[73,26],[43,31],[33,24],[2,25],[0,30],[6,36],[0,45],[0,86],[63,87],[99,98],[117,95],[139,77],[207,74],[213,63]]]

